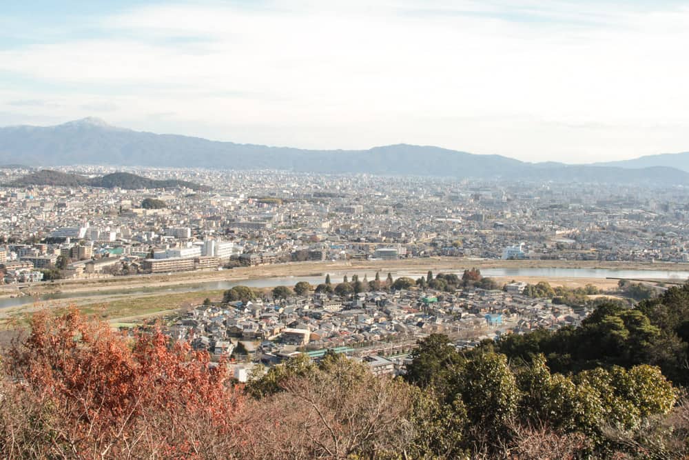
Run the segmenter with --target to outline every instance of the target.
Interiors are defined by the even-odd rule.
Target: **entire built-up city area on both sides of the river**
[[[58,168],[95,176],[114,168]],[[130,168],[209,186],[7,186],[0,170],[0,281],[107,279],[302,261],[427,257],[562,261],[689,261],[686,190],[456,181],[269,170]],[[438,277],[440,275],[440,277]],[[227,292],[170,319],[166,332],[215,357],[271,364],[345,352],[376,373],[400,372],[419,337],[458,347],[535,328],[577,326],[593,308],[478,272],[392,279],[356,274],[313,286]],[[447,276],[448,279],[444,279]],[[328,277],[329,278],[329,277]],[[440,281],[438,281],[440,279]],[[451,289],[448,289],[450,287]],[[589,292],[593,293],[593,292]],[[597,292],[596,292],[597,293]],[[234,296],[234,297],[233,297]],[[243,298],[240,298],[243,297]]]

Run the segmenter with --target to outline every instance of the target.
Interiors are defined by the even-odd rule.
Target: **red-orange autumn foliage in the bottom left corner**
[[[242,406],[227,368],[159,331],[36,314],[5,361],[3,458],[228,458]],[[210,450],[210,451],[209,451]]]

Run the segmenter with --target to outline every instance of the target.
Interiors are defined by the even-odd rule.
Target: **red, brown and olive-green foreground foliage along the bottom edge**
[[[594,315],[595,318],[595,315]],[[76,309],[36,314],[3,353],[3,459],[684,459],[686,389],[661,369],[552,372],[431,334],[404,378],[327,352],[261,371],[160,330],[123,334]],[[617,456],[617,457],[615,457]]]

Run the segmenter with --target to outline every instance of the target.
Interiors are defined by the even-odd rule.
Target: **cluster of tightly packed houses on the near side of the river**
[[[418,339],[434,332],[466,348],[504,334],[578,326],[589,312],[502,290],[399,290],[347,298],[308,294],[196,306],[173,321],[167,334],[216,358],[272,365],[300,352],[318,357],[325,350],[340,350],[377,373],[403,372],[400,356],[395,361],[381,354],[407,354]]]

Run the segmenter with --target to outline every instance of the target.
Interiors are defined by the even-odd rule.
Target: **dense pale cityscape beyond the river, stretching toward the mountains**
[[[3,181],[29,172],[3,170]],[[27,270],[54,268],[59,257],[63,278],[433,256],[689,261],[682,224],[689,203],[681,187],[263,170],[132,172],[213,189],[3,188],[5,282],[37,281],[41,272]],[[151,199],[161,206],[147,208]]]

